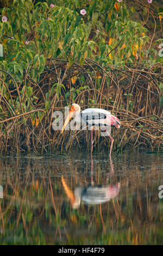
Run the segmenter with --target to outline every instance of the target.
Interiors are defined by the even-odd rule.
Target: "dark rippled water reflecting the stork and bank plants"
[[[162,153],[0,160],[1,245],[163,244]]]

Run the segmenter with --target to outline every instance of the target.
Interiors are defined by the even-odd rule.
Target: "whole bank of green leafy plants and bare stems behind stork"
[[[72,103],[120,119],[113,150],[162,151],[163,9],[146,4],[146,22],[134,22],[137,1],[130,9],[127,1],[89,1],[83,14],[84,1],[51,2],[18,0],[1,9],[0,155],[90,149],[89,131],[52,129],[53,112]],[[147,19],[154,21],[150,36]],[[109,139],[95,133],[94,148],[109,152]]]

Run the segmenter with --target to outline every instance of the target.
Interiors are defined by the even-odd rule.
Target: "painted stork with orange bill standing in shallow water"
[[[76,121],[77,124],[85,124],[90,127],[89,130],[91,130],[91,155],[93,150],[93,126],[99,126],[103,131],[103,136],[109,136],[111,139],[109,153],[109,155],[111,156],[112,145],[114,143],[114,139],[110,135],[111,126],[120,128],[121,125],[119,119],[114,115],[111,115],[109,111],[101,108],[86,108],[80,113],[80,106],[76,103],[73,103],[70,107],[70,111],[65,120],[65,124],[62,127],[61,133],[63,133],[68,121],[72,117],[74,117],[74,121]]]

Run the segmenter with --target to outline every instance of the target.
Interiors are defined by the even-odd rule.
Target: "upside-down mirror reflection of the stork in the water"
[[[114,168],[110,158],[111,164],[111,173],[113,174]],[[93,174],[93,162],[91,159],[91,172]],[[92,176],[92,175],[91,175]],[[101,204],[108,202],[111,198],[114,198],[118,195],[120,191],[120,183],[118,182],[116,185],[102,185],[97,186],[93,184],[93,178],[91,177],[91,185],[87,187],[76,187],[74,192],[68,188],[65,179],[61,178],[62,185],[65,189],[67,197],[70,199],[70,203],[73,209],[78,209],[80,206],[81,200],[85,204]]]

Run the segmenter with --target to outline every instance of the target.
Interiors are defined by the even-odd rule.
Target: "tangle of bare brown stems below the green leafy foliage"
[[[103,68],[85,58],[83,66],[68,66],[66,60],[48,59],[36,83],[32,79],[32,63],[24,72],[23,81],[1,70],[0,80],[0,152],[48,154],[90,148],[89,131],[53,131],[52,114],[64,113],[65,106],[78,103],[104,108],[121,120],[121,129],[112,129],[114,149],[140,145],[163,148],[162,67],[140,64]],[[29,92],[30,88],[30,92]],[[96,150],[109,151],[108,137],[95,131]]]

